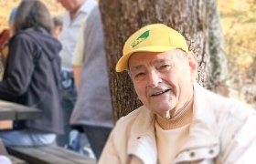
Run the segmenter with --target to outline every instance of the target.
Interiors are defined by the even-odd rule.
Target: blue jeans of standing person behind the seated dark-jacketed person
[[[64,121],[64,134],[59,135],[57,137],[57,144],[60,147],[66,147],[69,149],[73,149],[79,151],[78,145],[80,142],[78,135],[70,135],[72,136],[72,144],[69,145],[69,133],[74,131],[71,129],[69,125],[69,119],[72,114],[73,108],[75,106],[76,98],[77,98],[77,91],[75,88],[75,83],[73,79],[72,72],[62,71],[61,72],[61,82],[62,82],[62,90],[61,90],[61,107],[63,109],[63,121]],[[75,134],[75,133],[74,133]],[[78,143],[76,143],[78,142]]]

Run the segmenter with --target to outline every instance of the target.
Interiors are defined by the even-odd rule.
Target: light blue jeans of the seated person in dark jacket
[[[0,133],[5,145],[8,146],[43,146],[54,143],[56,134],[34,129],[4,131]]]

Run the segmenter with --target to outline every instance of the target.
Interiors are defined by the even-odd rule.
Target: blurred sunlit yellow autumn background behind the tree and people
[[[56,0],[41,0],[52,15],[65,10]],[[0,31],[21,0],[0,0]],[[256,108],[256,0],[218,0],[229,65],[230,97]]]

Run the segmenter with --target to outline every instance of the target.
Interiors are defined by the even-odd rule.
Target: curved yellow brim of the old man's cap
[[[117,62],[115,70],[116,72],[122,72],[127,69],[128,60],[136,52],[166,52],[172,49],[176,49],[176,46],[144,46],[138,49],[134,49],[129,53],[123,55]]]

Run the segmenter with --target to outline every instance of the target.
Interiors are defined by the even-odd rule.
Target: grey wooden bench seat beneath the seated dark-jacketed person
[[[6,147],[8,153],[28,164],[96,164],[95,159],[58,146]]]

